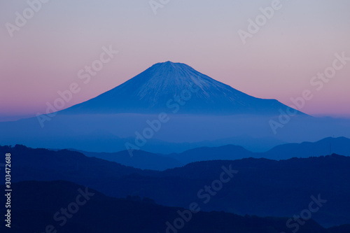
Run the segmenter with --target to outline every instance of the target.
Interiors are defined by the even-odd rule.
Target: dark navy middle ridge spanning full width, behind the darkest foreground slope
[[[350,223],[350,157],[341,155],[281,161],[216,160],[143,171],[69,150],[1,146],[0,153],[13,155],[13,182],[71,181],[111,197],[139,195],[183,208],[196,200],[208,200],[203,211],[242,216],[293,216],[308,208],[311,196],[319,196],[327,202],[312,214],[317,223],[324,227]],[[4,177],[3,171],[0,174]],[[228,178],[221,176],[223,172],[234,175],[220,184],[222,178]]]

